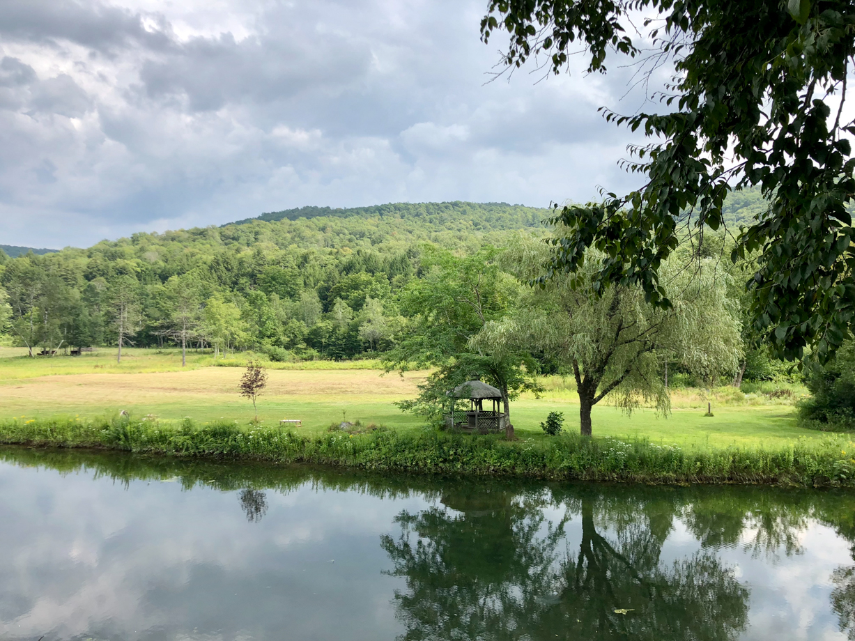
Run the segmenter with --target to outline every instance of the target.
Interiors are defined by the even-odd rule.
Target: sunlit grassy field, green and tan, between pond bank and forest
[[[94,418],[122,409],[133,415],[156,415],[161,420],[189,416],[199,422],[225,419],[247,423],[253,417],[251,403],[238,394],[243,370],[209,367],[210,356],[192,354],[189,367],[181,370],[180,354],[174,351],[157,354],[131,350],[127,362],[114,366],[115,351],[32,361],[13,349],[0,350],[0,420],[56,415]],[[408,373],[402,379],[396,373],[381,375],[376,369],[354,369],[352,364],[282,367],[289,368],[268,370],[268,390],[258,401],[258,416],[265,424],[299,419],[303,421],[299,431],[304,433],[321,432],[345,418],[397,429],[423,425],[420,417],[404,414],[393,404],[416,395],[423,373]],[[516,432],[523,438],[546,438],[539,424],[552,410],[564,413],[565,429],[578,430],[578,404],[566,398],[570,397],[527,397],[511,403]],[[692,446],[771,445],[799,437],[823,437],[799,428],[793,407],[788,405],[713,405],[712,417],[705,417],[705,411],[705,407],[678,408],[663,417],[652,409],[637,409],[627,415],[600,405],[593,410],[593,431],[600,437],[648,438],[657,444]]]

